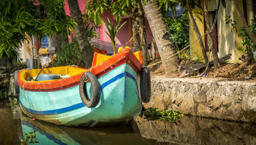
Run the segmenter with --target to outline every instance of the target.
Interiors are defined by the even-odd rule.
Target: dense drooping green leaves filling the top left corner
[[[37,12],[34,1],[2,0],[0,1],[0,59],[3,53],[13,57],[15,50],[28,40],[28,36],[37,36],[39,40],[49,34],[70,34],[76,23],[65,15],[64,0],[40,0],[46,8],[46,15]]]

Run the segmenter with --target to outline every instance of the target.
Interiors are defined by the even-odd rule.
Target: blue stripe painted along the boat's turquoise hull
[[[123,78],[124,76],[129,77],[129,78],[131,78],[132,80],[134,80],[136,82],[136,79],[134,78],[134,76],[131,75],[129,72],[125,71],[125,72],[117,75],[116,77],[110,79],[109,81],[106,81],[105,83],[103,83],[100,87],[100,91],[102,91],[102,89],[104,87],[106,87],[109,84]],[[126,97],[126,96],[124,96],[124,97]],[[20,102],[20,101],[19,101],[19,103],[27,112],[33,113],[33,114],[38,114],[38,115],[53,115],[53,114],[64,113],[64,112],[68,112],[68,111],[72,111],[72,110],[84,107],[84,104],[81,102],[81,103],[78,103],[78,104],[75,104],[75,105],[72,105],[72,106],[69,106],[69,107],[65,107],[65,108],[54,109],[54,110],[46,110],[46,111],[36,111],[36,110],[32,110],[32,109],[29,109],[29,108],[25,107],[22,104],[22,102]]]

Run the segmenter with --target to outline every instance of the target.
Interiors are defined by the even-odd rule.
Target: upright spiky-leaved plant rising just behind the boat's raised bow
[[[119,29],[124,25],[124,23],[122,23],[122,25],[119,27],[119,22],[117,23],[116,27],[114,26],[114,23],[111,23],[109,18],[106,17],[108,19],[108,22],[105,22],[105,25],[106,25],[106,28],[108,29],[109,32],[106,32],[106,34],[110,37],[111,39],[111,42],[112,42],[112,45],[113,45],[113,51],[114,51],[114,54],[116,53],[115,52],[115,44],[116,44],[116,40],[115,40],[115,37],[116,37],[116,34],[117,32],[119,31]]]

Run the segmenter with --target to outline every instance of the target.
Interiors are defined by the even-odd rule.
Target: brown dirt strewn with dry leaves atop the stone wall
[[[151,76],[166,76],[164,72],[164,67],[161,59],[157,58],[154,62],[148,64],[151,70]],[[193,65],[194,62],[189,61],[181,61],[181,66]],[[256,80],[256,63],[247,64],[247,63],[223,63],[221,64],[221,68],[216,69],[215,66],[211,66],[208,72],[202,76],[205,67],[195,71],[188,76],[183,78],[197,78],[197,77],[205,77],[205,78],[225,78],[231,80]],[[179,77],[179,73],[172,74],[171,76]]]

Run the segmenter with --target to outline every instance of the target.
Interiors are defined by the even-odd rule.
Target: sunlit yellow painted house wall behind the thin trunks
[[[247,4],[249,4],[249,0],[247,1],[248,1]],[[204,2],[201,3],[202,7],[203,7],[203,4]],[[214,11],[215,9],[217,9],[217,4],[218,4],[218,0],[211,0],[208,3],[208,11]],[[243,11],[242,0],[238,0],[238,4],[240,5],[240,9]],[[249,7],[247,11],[249,11]],[[203,15],[200,15],[197,12],[200,12],[201,14],[203,14],[203,10],[199,8],[196,8],[193,10],[193,15],[194,15],[194,18],[196,19],[200,33],[201,35],[203,35],[204,25],[199,19],[201,18],[203,21]],[[238,37],[238,33],[231,32],[232,28],[230,24],[226,25],[224,21],[226,15],[231,15],[231,19],[237,21],[238,23],[237,28],[240,28],[243,26],[242,19],[240,18],[238,11],[233,4],[233,1],[226,1],[226,8],[224,8],[221,4],[219,14],[217,17],[219,57],[222,57],[231,53],[232,54],[231,59],[229,59],[228,61],[240,62],[238,58],[241,57],[242,52],[238,51],[237,48],[242,38]],[[189,29],[190,29],[189,39],[190,39],[190,43],[192,43],[198,38],[194,30],[191,19],[189,20]],[[203,42],[204,42],[204,37],[203,37]],[[201,58],[203,58],[201,47],[198,41],[190,46],[190,50],[191,50],[191,55],[193,55],[194,57],[199,55]],[[207,53],[207,55],[208,54],[209,53]],[[212,60],[211,55],[210,55],[210,60]]]

